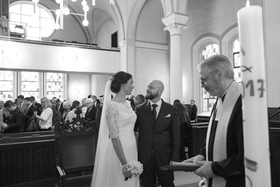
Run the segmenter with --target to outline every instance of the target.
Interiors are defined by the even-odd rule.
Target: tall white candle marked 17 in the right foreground
[[[241,47],[246,187],[269,187],[271,176],[262,7],[247,5],[238,11],[237,18]]]

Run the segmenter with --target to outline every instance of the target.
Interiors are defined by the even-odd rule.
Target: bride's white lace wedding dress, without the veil
[[[119,157],[116,155],[111,138],[119,137],[124,150],[126,161],[138,160],[137,146],[134,135],[134,124],[136,121],[135,112],[131,104],[109,101],[106,110],[106,121],[109,129],[109,141],[105,146],[105,162],[98,166],[96,177],[93,177],[94,187],[139,187],[139,179],[132,177],[127,181],[122,174],[122,166]],[[98,139],[99,141],[99,139]],[[97,162],[95,160],[95,162]]]

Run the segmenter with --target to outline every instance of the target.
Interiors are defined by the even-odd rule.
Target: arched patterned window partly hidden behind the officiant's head
[[[208,44],[201,50],[201,61],[215,54],[219,54],[219,45],[214,43]],[[216,101],[216,97],[211,96],[205,89],[202,89],[202,98],[203,98],[202,111],[210,112]]]

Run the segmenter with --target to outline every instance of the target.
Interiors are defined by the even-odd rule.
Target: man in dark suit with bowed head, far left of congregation
[[[11,113],[11,119],[8,124],[2,126],[4,134],[19,133],[25,129],[25,114],[18,108],[13,101],[8,100],[4,104],[4,108]]]

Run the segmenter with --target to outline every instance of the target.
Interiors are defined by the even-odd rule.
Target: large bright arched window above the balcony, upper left
[[[17,1],[10,6],[10,16],[11,37],[39,40],[53,33],[53,15],[39,4],[34,11],[31,1]]]

